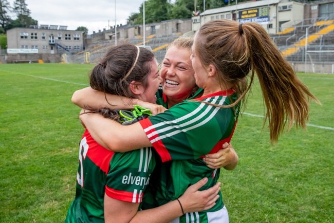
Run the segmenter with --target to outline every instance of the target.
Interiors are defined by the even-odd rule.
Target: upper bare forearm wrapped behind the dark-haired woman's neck
[[[81,108],[90,109],[98,109],[101,107],[108,107],[110,109],[132,109],[133,105],[137,103],[137,99],[105,94],[91,87],[76,90],[73,93],[71,101]]]

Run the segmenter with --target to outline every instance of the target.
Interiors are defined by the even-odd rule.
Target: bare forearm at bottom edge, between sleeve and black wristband
[[[130,222],[164,223],[180,216],[182,216],[181,207],[178,201],[174,200],[154,209],[139,211]]]

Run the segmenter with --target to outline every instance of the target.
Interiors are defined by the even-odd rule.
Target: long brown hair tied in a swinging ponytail
[[[230,106],[245,102],[256,72],[267,108],[264,123],[269,120],[271,142],[276,142],[284,131],[286,120],[288,129],[293,123],[296,127],[306,127],[309,99],[320,102],[296,77],[261,25],[210,21],[198,30],[195,43],[194,50],[203,66],[214,65],[219,83],[232,85],[239,95]]]

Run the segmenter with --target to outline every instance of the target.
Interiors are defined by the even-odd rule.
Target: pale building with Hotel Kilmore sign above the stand
[[[270,34],[316,18],[333,18],[334,1],[300,3],[291,0],[263,0],[243,2],[233,6],[206,10],[192,17],[192,30],[196,31],[208,21],[227,18],[239,23],[256,22]]]

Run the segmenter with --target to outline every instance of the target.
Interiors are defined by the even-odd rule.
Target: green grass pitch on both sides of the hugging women
[[[1,222],[64,222],[75,196],[83,128],[72,92],[88,86],[86,64],[1,64]],[[270,144],[257,82],[232,144],[239,163],[219,181],[230,222],[333,222],[334,77],[299,73],[322,102],[306,131]]]

